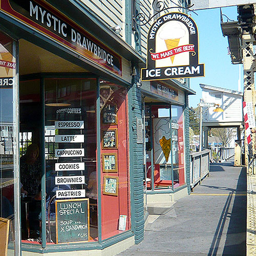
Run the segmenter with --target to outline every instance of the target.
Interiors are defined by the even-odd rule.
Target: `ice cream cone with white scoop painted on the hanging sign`
[[[179,46],[180,39],[184,37],[185,33],[179,22],[172,21],[162,27],[159,37],[165,41],[167,50],[172,50]],[[175,55],[170,56],[172,63],[174,62],[174,58]]]

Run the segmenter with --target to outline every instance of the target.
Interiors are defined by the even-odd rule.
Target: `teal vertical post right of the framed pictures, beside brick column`
[[[129,122],[129,156],[130,156],[130,197],[131,197],[131,229],[134,232],[135,230],[135,199],[134,199],[134,137],[133,137],[133,125],[132,125],[132,103],[133,93],[132,89],[128,91],[128,122]]]

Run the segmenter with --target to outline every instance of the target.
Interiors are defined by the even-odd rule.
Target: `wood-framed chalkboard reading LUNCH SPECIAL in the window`
[[[56,243],[88,242],[89,199],[56,200]]]

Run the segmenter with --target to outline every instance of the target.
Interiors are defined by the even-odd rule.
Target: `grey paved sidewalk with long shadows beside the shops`
[[[211,164],[190,196],[155,216],[144,241],[118,256],[245,256],[246,169],[232,165]]]

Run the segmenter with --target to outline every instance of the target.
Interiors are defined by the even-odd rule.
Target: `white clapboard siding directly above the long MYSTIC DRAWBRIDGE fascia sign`
[[[120,26],[124,35],[124,0],[81,0],[96,17],[110,27]]]

